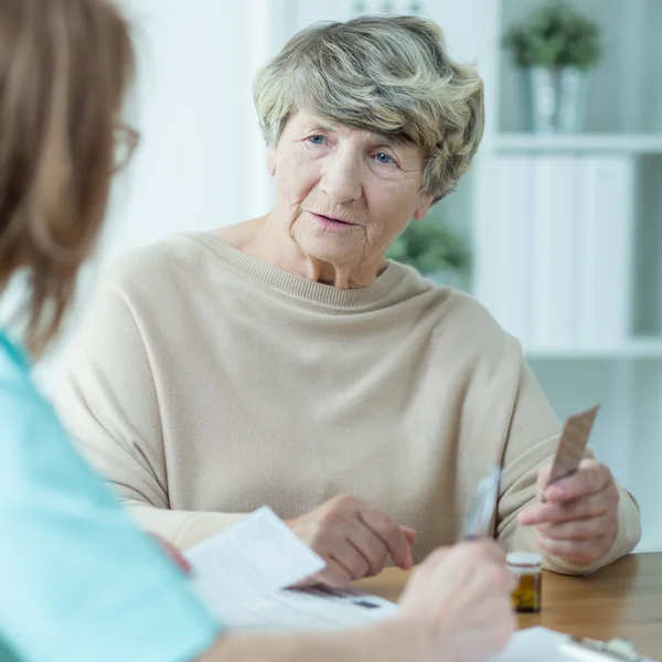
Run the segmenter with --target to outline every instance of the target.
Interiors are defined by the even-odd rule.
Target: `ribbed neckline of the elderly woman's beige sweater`
[[[383,303],[403,278],[403,267],[394,261],[377,276],[372,285],[363,288],[342,289],[295,276],[242,253],[221,239],[215,232],[189,235],[235,269],[269,285],[285,295],[306,300],[318,307],[333,309],[365,309]]]

